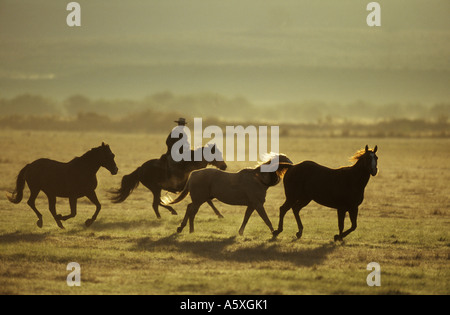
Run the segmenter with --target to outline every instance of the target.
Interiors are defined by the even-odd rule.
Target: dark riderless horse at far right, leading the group
[[[292,208],[298,225],[297,238],[303,233],[303,225],[300,220],[300,210],[308,205],[311,200],[330,208],[336,208],[338,213],[339,234],[334,240],[341,240],[356,229],[358,206],[364,199],[364,189],[370,175],[377,174],[377,160],[375,155],[377,146],[369,150],[358,151],[352,160],[353,166],[339,169],[329,169],[311,161],[305,161],[292,166],[284,176],[284,189],[286,201],[280,207],[280,221],[278,230],[273,232],[276,237],[283,231],[283,218],[286,212]],[[344,230],[345,213],[349,212],[352,226]]]

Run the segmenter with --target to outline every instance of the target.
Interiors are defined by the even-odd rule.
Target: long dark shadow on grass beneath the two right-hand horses
[[[320,265],[332,253],[336,245],[327,243],[315,248],[295,249],[282,251],[277,244],[267,243],[253,247],[238,248],[236,250],[227,249],[228,246],[236,243],[236,236],[208,241],[179,241],[178,234],[172,234],[158,240],[151,240],[149,237],[140,238],[136,243],[136,250],[175,250],[178,252],[192,253],[200,257],[218,261],[233,262],[291,262],[298,266]]]

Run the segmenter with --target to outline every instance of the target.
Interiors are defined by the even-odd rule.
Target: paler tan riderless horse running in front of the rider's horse
[[[210,202],[213,198],[230,205],[247,206],[244,221],[239,234],[244,233],[248,219],[254,210],[258,212],[270,231],[273,232],[272,223],[264,209],[267,189],[276,185],[284,175],[287,167],[292,164],[285,155],[273,157],[278,159],[274,164],[274,171],[262,172],[261,165],[254,169],[243,169],[238,173],[224,172],[216,169],[204,169],[192,172],[184,190],[170,204],[183,200],[189,193],[192,203],[187,206],[186,214],[177,231],[180,233],[189,220],[189,231],[194,232],[194,218],[200,206]],[[272,160],[264,164],[271,164]]]

